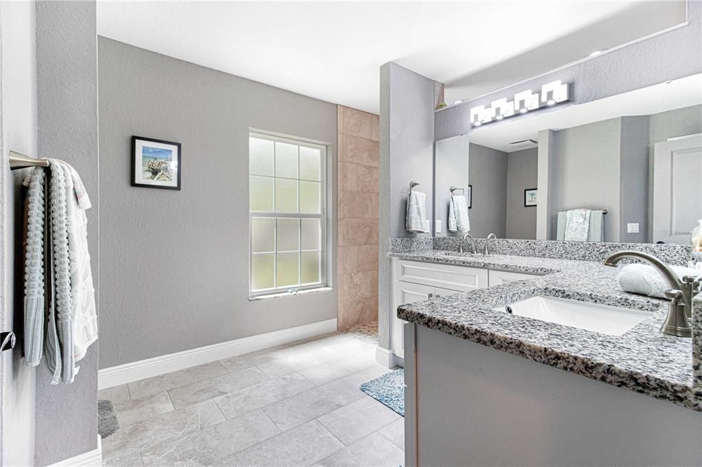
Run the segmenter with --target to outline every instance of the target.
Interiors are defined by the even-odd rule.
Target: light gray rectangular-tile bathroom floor
[[[372,329],[371,329],[372,332]],[[400,466],[404,419],[359,385],[367,328],[327,334],[100,391],[120,428],[106,466]]]

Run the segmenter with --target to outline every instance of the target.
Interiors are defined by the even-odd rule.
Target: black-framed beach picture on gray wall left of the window
[[[135,135],[131,140],[131,186],[180,190],[180,143]]]

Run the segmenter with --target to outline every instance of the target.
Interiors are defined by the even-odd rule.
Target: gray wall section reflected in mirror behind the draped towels
[[[604,240],[619,238],[619,173],[621,119],[609,119],[554,132],[550,157],[551,239],[562,210],[607,209]]]

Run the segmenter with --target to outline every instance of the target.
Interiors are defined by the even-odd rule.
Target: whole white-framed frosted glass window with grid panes
[[[249,134],[252,297],[326,285],[325,203],[324,145]]]

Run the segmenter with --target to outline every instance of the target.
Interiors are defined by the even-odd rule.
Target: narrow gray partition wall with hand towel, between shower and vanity
[[[404,228],[409,182],[420,182],[416,189],[427,194],[427,218],[433,218],[434,98],[435,81],[393,62],[380,67],[378,345],[383,348],[390,346],[388,244],[392,237],[416,236]]]

